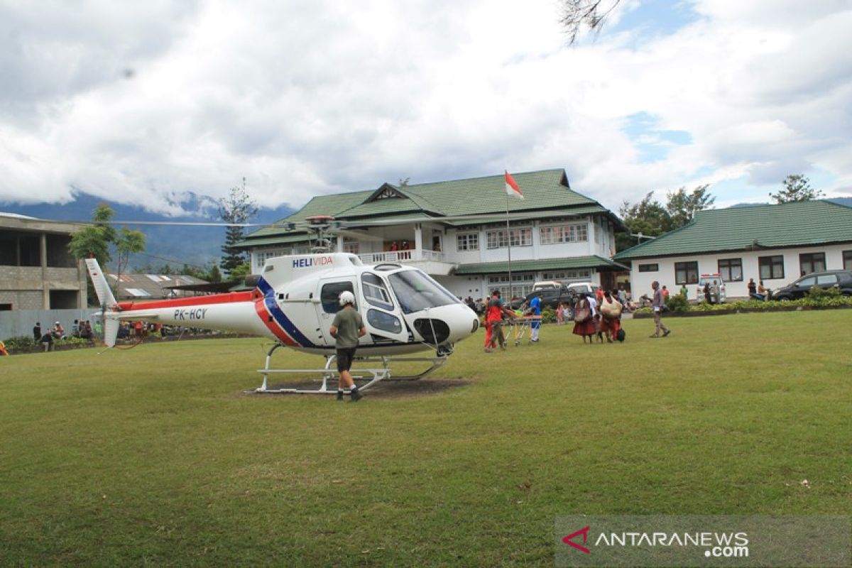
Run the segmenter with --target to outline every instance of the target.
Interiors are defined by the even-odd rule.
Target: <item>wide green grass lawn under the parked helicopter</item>
[[[553,565],[557,515],[852,513],[852,311],[668,323],[480,333],[435,374],[467,386],[357,404],[245,395],[262,340],[2,358],[0,565]]]

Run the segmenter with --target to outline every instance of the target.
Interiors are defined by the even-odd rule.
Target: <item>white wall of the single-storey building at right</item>
[[[758,257],[760,256],[775,256],[782,255],[784,257],[784,278],[775,278],[764,280],[763,284],[771,290],[776,290],[781,286],[790,284],[801,276],[799,272],[799,255],[803,253],[822,252],[826,254],[826,270],[841,270],[843,269],[843,250],[852,250],[852,243],[849,244],[834,244],[828,246],[815,247],[797,247],[794,249],[775,249],[775,250],[760,250],[760,251],[740,251],[732,253],[715,253],[712,255],[685,255],[685,256],[670,256],[658,259],[640,259],[632,261],[633,266],[630,270],[630,289],[634,297],[638,295],[649,294],[651,291],[651,283],[653,280],[658,280],[660,285],[665,284],[669,290],[680,290],[680,286],[675,284],[675,263],[698,261],[698,272],[717,273],[719,272],[719,260],[728,258],[740,258],[743,265],[743,280],[742,282],[726,282],[726,290],[728,297],[745,298],[748,296],[749,278],[754,278],[755,282],[760,281],[760,270],[758,266]],[[640,264],[658,264],[659,271],[655,273],[640,273]],[[695,284],[688,284],[689,298],[695,297]]]

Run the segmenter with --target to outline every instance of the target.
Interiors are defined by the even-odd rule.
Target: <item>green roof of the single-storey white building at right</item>
[[[692,221],[615,260],[852,242],[852,208],[817,199],[699,211]]]

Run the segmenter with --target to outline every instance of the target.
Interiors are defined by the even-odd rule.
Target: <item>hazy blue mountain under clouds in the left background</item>
[[[106,203],[115,211],[116,221],[188,221],[216,222],[216,202],[206,196],[191,194],[181,203],[186,211],[196,212],[194,215],[168,216],[152,213],[146,209],[127,204],[118,204],[109,199],[97,198],[88,193],[78,193],[74,201],[67,204],[34,204],[20,205],[0,202],[0,211],[28,215],[37,219],[54,221],[89,221],[92,211],[98,204]],[[251,219],[253,223],[271,223],[290,215],[292,210],[286,207],[277,209],[260,209]],[[131,267],[160,267],[169,264],[171,267],[181,267],[184,263],[203,267],[211,262],[218,262],[222,255],[220,250],[225,242],[225,227],[184,227],[184,226],[134,226],[147,235],[145,253],[132,255]],[[248,229],[246,232],[253,231]]]

